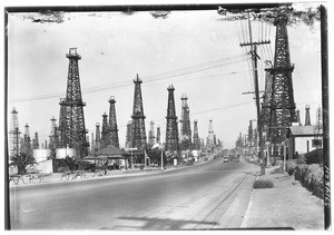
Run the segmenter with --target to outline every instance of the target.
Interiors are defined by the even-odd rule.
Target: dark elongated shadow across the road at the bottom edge
[[[170,219],[170,218],[156,218],[156,217],[131,217],[121,216],[118,219],[129,221],[128,225],[117,225],[112,228],[102,227],[101,229],[139,229],[139,231],[177,231],[187,229],[187,225],[216,225],[215,222],[199,222],[199,221],[185,221],[185,219]],[[140,223],[135,226],[134,224]]]

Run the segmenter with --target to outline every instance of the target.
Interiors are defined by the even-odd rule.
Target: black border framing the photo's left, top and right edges
[[[125,6],[37,6],[37,7],[6,7],[4,8],[4,229],[10,226],[9,199],[9,153],[8,153],[8,13],[16,12],[87,12],[87,11],[176,11],[176,10],[218,10],[224,8],[229,11],[244,11],[252,9],[259,11],[264,8],[278,8],[292,6],[292,2],[279,3],[216,3],[216,4],[125,4]],[[328,106],[328,42],[327,42],[327,8],[320,4],[321,10],[321,65],[322,65],[322,105],[323,105],[323,153],[324,153],[324,228],[331,227],[331,184],[330,184],[330,106]],[[248,229],[248,228],[247,228]],[[250,228],[258,229],[258,228]],[[271,229],[271,228],[265,228]],[[273,229],[273,228],[272,228]],[[282,229],[282,228],[274,228]],[[283,228],[284,229],[284,228]]]

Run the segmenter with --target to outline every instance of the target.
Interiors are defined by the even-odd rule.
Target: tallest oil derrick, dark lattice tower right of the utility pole
[[[295,101],[293,92],[292,72],[294,66],[289,60],[287,16],[278,13],[274,21],[276,26],[275,58],[273,68],[266,69],[273,76],[271,101],[271,143],[282,144],[285,140],[288,126],[295,121]],[[276,156],[276,147],[274,147]],[[276,157],[274,157],[276,159]]]

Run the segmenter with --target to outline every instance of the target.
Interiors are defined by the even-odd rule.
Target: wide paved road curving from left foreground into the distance
[[[11,187],[12,229],[240,227],[258,167],[209,163],[124,178]]]

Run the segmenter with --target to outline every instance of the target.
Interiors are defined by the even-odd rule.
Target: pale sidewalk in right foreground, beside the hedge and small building
[[[253,189],[243,228],[293,228],[296,231],[324,229],[324,204],[313,196],[294,176],[271,174],[266,169],[258,179],[269,179],[273,188]]]

